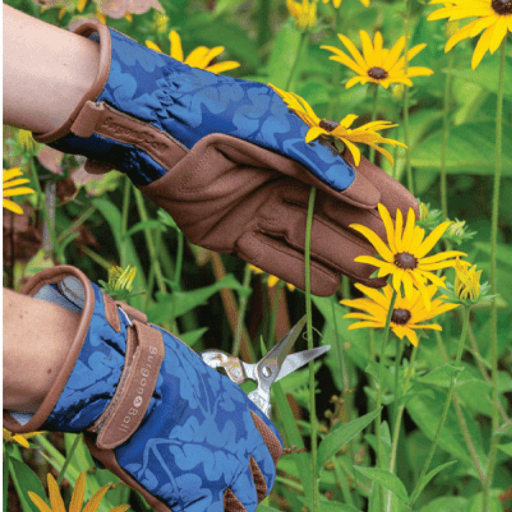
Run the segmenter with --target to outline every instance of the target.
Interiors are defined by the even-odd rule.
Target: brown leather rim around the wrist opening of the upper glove
[[[60,139],[70,133],[71,125],[75,122],[75,119],[78,117],[78,114],[82,110],[83,105],[88,100],[95,101],[100,95],[101,91],[105,88],[105,84],[109,79],[110,74],[110,63],[111,63],[111,54],[112,54],[112,41],[110,38],[110,32],[108,27],[101,24],[98,21],[93,19],[88,19],[80,24],[76,29],[75,33],[78,35],[82,35],[84,37],[89,37],[94,32],[97,32],[99,35],[99,68],[98,74],[87,93],[82,97],[79,103],[76,105],[75,109],[69,116],[69,119],[59,126],[56,130],[52,132],[47,132],[44,134],[34,134],[34,139],[38,142],[44,142],[48,144],[57,139]]]

